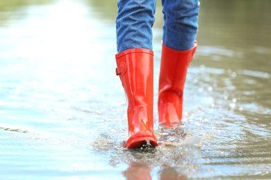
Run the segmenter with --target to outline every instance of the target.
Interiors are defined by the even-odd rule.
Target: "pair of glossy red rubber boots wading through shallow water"
[[[176,51],[163,44],[158,91],[158,123],[170,126],[180,122],[186,72],[197,48]],[[116,74],[120,76],[128,102],[129,138],[126,148],[142,147],[146,141],[157,146],[154,135],[154,52],[132,48],[115,55]]]

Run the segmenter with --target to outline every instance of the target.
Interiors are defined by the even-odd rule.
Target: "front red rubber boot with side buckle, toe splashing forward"
[[[128,102],[129,138],[125,147],[142,147],[149,141],[156,146],[154,136],[154,53],[132,48],[115,55],[116,74],[120,75]]]

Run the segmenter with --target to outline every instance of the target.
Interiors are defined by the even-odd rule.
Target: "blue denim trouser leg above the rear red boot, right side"
[[[163,44],[178,51],[192,46],[197,35],[198,0],[162,0],[164,24]]]

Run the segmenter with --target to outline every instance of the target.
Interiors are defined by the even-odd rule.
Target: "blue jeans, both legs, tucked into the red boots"
[[[197,35],[199,0],[162,0],[163,44],[178,51],[194,45]],[[130,48],[152,50],[152,31],[156,0],[119,0],[117,52]]]

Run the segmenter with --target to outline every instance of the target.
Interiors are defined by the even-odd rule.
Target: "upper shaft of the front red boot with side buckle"
[[[133,48],[116,56],[116,74],[120,76],[129,109],[146,106],[153,109],[154,53],[148,49]]]

